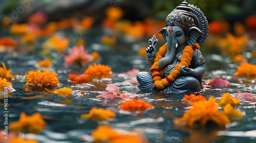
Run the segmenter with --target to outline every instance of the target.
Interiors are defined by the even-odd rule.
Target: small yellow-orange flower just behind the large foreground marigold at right
[[[224,93],[220,100],[216,100],[216,102],[221,105],[225,106],[226,104],[230,103],[232,106],[239,106],[240,101],[237,98],[232,98],[230,93]]]

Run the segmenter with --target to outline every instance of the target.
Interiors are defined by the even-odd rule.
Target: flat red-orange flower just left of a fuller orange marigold
[[[89,83],[92,81],[93,81],[93,78],[89,75],[77,76],[77,75],[69,74],[69,78],[68,78],[68,82],[74,82],[76,84]]]

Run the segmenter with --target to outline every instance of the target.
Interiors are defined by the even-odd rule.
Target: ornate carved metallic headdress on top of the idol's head
[[[185,0],[174,9],[165,19],[166,26],[179,26],[183,29],[197,27],[202,31],[197,42],[202,45],[209,32],[209,25],[203,12],[194,5],[188,4]]]

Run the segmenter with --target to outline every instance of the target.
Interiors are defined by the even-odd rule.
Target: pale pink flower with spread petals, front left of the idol
[[[128,94],[120,93],[119,88],[114,85],[114,84],[109,84],[106,86],[106,90],[109,92],[105,92],[97,97],[99,98],[104,98],[104,99],[115,99],[115,98],[120,98],[120,99],[127,99],[127,98],[132,98]]]

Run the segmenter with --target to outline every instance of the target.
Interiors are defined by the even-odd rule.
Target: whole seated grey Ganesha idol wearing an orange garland
[[[186,1],[165,19],[161,29],[165,44],[156,50],[158,39],[154,35],[148,42],[147,59],[151,73],[137,74],[139,88],[160,92],[198,92],[203,88],[202,75],[206,62],[200,46],[206,40],[209,26],[203,12]]]

